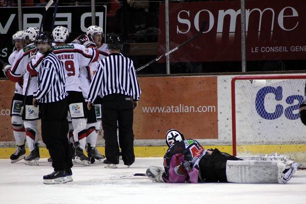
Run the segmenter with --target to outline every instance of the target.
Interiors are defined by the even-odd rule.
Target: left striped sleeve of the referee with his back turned
[[[94,74],[94,77],[90,83],[89,92],[87,95],[87,99],[90,103],[94,101],[94,99],[97,97],[98,92],[101,89],[101,82],[103,78],[103,67],[104,67],[104,61],[100,61],[96,67],[96,72]]]

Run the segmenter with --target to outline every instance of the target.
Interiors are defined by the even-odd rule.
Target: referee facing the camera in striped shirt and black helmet
[[[43,59],[38,73],[38,88],[33,94],[33,105],[37,106],[39,101],[42,141],[49,150],[54,168],[53,173],[43,176],[43,183],[66,183],[72,181],[72,152],[67,139],[66,96],[68,94],[65,91],[64,69],[59,58],[52,52],[52,35],[50,33],[39,33],[35,45]]]

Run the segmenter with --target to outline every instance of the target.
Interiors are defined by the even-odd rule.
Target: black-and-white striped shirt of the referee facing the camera
[[[48,51],[44,54],[38,73],[38,88],[34,91],[34,98],[40,103],[52,103],[64,99],[65,91],[64,68],[59,58]]]

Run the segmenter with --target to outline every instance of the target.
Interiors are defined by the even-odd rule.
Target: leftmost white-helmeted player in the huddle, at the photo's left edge
[[[6,70],[11,69],[12,64],[16,58],[17,53],[24,46],[24,37],[23,31],[18,31],[13,35],[13,45],[15,45],[14,52],[9,56],[9,63],[4,66],[4,74],[6,74]],[[11,106],[11,117],[12,117],[12,126],[13,126],[13,134],[16,141],[16,151],[11,155],[11,163],[15,163],[19,160],[22,160],[25,157],[25,129],[22,117],[20,116],[21,106],[23,101],[22,95],[22,84],[19,82],[15,83],[15,93],[12,98],[12,106]]]

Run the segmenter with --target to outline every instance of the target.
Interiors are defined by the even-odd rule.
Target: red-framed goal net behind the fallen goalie
[[[306,126],[299,116],[306,75],[232,79],[233,154],[285,155],[305,167]]]

